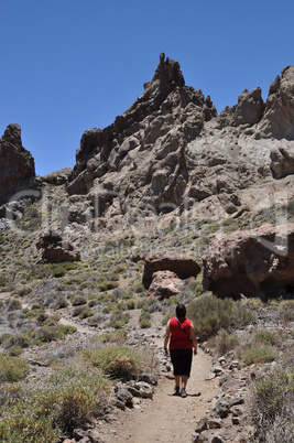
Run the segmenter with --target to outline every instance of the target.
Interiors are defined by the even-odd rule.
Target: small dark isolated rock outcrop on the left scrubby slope
[[[44,234],[36,244],[36,248],[44,249],[42,261],[45,263],[62,263],[65,261],[80,260],[80,253],[74,250],[73,245],[65,241],[58,234]]]

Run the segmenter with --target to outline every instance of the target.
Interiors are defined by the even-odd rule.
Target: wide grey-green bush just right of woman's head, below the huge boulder
[[[193,300],[187,306],[187,315],[200,339],[207,339],[220,329],[230,331],[247,325],[255,318],[240,301],[221,300],[210,294]]]

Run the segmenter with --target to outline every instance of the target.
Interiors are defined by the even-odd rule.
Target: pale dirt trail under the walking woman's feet
[[[196,422],[205,415],[207,401],[210,401],[218,391],[216,379],[205,381],[210,367],[210,357],[199,350],[193,360],[187,385],[188,396],[184,399],[174,397],[174,381],[163,379],[156,388],[153,400],[145,402],[143,412],[131,411],[132,417],[124,420],[117,434],[117,441],[190,442]]]

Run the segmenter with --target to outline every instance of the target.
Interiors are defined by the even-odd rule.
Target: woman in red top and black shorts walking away
[[[190,320],[186,318],[186,306],[182,303],[176,306],[176,317],[171,318],[166,325],[163,346],[166,356],[168,355],[168,341],[171,360],[174,367],[174,395],[187,397],[186,386],[190,372],[193,347],[194,355],[196,355],[197,342],[194,325]],[[181,381],[182,385],[179,386]]]

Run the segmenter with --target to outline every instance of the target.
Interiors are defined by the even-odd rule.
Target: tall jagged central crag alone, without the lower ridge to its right
[[[188,182],[187,142],[216,116],[210,98],[185,86],[178,63],[163,54],[144,88],[112,125],[81,137],[67,190],[87,194],[98,216],[131,219],[178,207]]]

